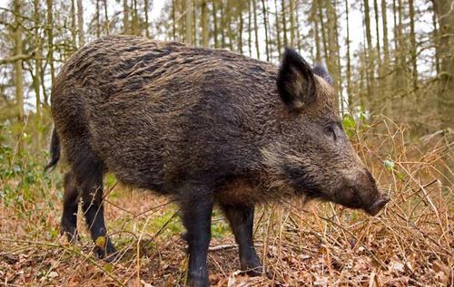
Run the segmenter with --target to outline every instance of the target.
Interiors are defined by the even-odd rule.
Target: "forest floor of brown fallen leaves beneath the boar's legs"
[[[166,204],[167,199],[146,192],[122,189],[118,193],[121,196],[115,193],[111,196],[114,198],[108,199],[111,204],[106,204],[109,231],[119,251],[113,263],[94,257],[93,244],[84,227],[77,244],[66,244],[58,235],[59,207],[52,210],[43,203],[39,210],[30,211],[33,214],[30,217],[17,216],[3,208],[1,282],[8,286],[183,284],[187,257],[182,225],[178,216],[173,216],[177,208]],[[262,217],[262,223],[256,233],[260,234],[256,235],[256,244],[266,268],[274,275],[271,279],[251,278],[238,271],[238,250],[232,234],[221,216],[214,215],[209,254],[212,285],[447,286],[452,283],[452,265],[449,266],[452,246],[437,234],[405,226],[411,235],[396,238],[402,234],[394,233],[383,215],[372,218],[356,212],[353,213],[360,216],[356,226],[334,228],[335,225],[327,225],[317,215],[318,205],[305,206],[306,211],[301,213],[305,218],[298,218],[279,206],[259,210],[257,221]],[[272,213],[271,209],[274,209]],[[351,216],[350,211],[341,212],[345,214],[342,216]],[[301,222],[292,222],[295,220]],[[278,226],[280,223],[282,228]],[[83,224],[80,220],[79,226]],[[295,226],[300,224],[305,227],[297,229]],[[412,236],[418,237],[414,243]]]

